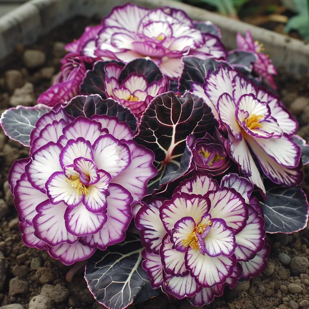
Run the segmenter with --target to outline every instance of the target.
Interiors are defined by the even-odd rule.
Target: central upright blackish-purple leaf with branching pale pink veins
[[[217,120],[203,98],[190,92],[181,98],[172,91],[157,95],[143,113],[138,134],[133,138],[155,153],[159,172],[149,186],[156,183],[158,188],[165,175],[174,172],[176,166],[180,168],[189,134],[203,137],[206,132],[212,133],[216,125]]]

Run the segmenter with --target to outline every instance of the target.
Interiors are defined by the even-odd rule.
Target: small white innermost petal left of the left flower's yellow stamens
[[[64,172],[55,172],[46,182],[46,193],[52,204],[63,202],[69,207],[77,206],[83,195],[79,194]]]

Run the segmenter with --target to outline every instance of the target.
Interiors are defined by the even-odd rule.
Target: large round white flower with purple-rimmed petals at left
[[[131,205],[157,173],[133,135],[116,117],[73,119],[62,108],[36,122],[30,157],[9,173],[27,246],[71,265],[125,239]]]

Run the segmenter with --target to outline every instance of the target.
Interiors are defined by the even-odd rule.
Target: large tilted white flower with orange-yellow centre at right
[[[298,123],[280,99],[265,87],[256,87],[236,70],[220,66],[205,83],[192,84],[228,131],[230,155],[241,171],[265,192],[255,154],[264,174],[276,184],[302,182],[301,151],[293,141]]]

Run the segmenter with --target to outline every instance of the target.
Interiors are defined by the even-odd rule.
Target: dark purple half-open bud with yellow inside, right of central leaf
[[[187,145],[192,152],[192,165],[194,169],[205,171],[210,176],[222,175],[231,166],[229,157],[229,143],[218,130],[214,137],[206,133],[203,138],[190,135]]]

